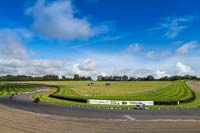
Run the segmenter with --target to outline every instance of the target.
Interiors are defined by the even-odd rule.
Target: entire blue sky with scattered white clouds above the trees
[[[2,0],[0,75],[200,76],[199,0]]]

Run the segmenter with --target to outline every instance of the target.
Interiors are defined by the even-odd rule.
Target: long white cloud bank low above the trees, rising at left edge
[[[82,76],[92,76],[93,78],[102,73],[103,75],[128,75],[135,77],[153,75],[155,78],[170,74],[200,75],[198,70],[200,65],[197,62],[200,60],[198,52],[195,56],[171,55],[161,60],[146,60],[143,57],[133,56],[132,54],[91,51],[82,51],[83,53],[65,60],[34,59],[22,43],[22,36],[16,30],[0,29],[0,38],[0,75],[25,74],[42,76],[57,74],[60,76],[72,76],[78,73]],[[156,53],[155,55],[159,54]],[[194,70],[181,63],[184,61],[187,61],[188,65],[194,67]],[[176,71],[173,71],[175,64]]]

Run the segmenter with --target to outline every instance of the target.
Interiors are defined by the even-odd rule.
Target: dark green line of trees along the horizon
[[[147,77],[128,77],[124,76],[98,76],[97,81],[174,81],[174,80],[200,80],[197,76],[171,76],[155,79],[152,75]],[[45,75],[40,77],[26,76],[26,75],[6,75],[0,76],[0,81],[92,81],[90,76],[79,76],[75,74],[73,78],[66,76],[59,77],[58,75]]]

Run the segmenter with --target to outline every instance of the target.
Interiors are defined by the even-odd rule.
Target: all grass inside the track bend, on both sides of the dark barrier
[[[69,98],[80,99],[110,99],[110,100],[153,100],[153,101],[177,101],[185,100],[192,97],[192,90],[184,81],[132,81],[132,82],[110,82],[110,86],[106,86],[106,82],[94,82],[92,86],[88,86],[88,81],[31,81],[17,82],[27,84],[43,84],[59,86],[59,91],[52,88],[51,92],[33,96],[41,97],[43,102],[51,102],[57,104],[70,104],[81,106],[95,107],[118,107],[116,105],[89,105],[86,103],[72,102],[67,100],[59,100],[48,97],[49,94],[56,92],[54,95]],[[152,106],[152,108],[160,107],[194,107],[200,105],[200,93],[194,91],[196,99],[190,103],[184,103],[176,106]],[[126,105],[125,105],[126,106]],[[125,107],[120,106],[120,107]],[[131,106],[126,106],[131,107]]]

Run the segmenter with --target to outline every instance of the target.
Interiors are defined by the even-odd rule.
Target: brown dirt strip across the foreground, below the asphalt
[[[3,133],[199,133],[200,121],[126,121],[41,115],[0,105]]]

